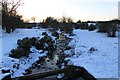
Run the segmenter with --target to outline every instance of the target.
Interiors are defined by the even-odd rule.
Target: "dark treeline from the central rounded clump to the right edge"
[[[49,28],[52,30],[60,30],[70,35],[73,35],[73,29],[83,29],[93,31],[95,29],[100,33],[107,33],[109,37],[115,37],[116,31],[120,28],[120,20],[110,21],[86,21],[78,20],[76,23],[71,18],[63,17],[59,20],[52,17],[46,18],[40,23],[42,28]]]

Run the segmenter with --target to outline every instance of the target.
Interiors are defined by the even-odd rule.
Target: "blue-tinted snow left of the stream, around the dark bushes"
[[[1,30],[2,31],[2,30]],[[2,68],[8,67],[11,70],[14,70],[15,73],[12,77],[23,76],[22,73],[25,72],[35,61],[39,60],[38,57],[45,56],[47,52],[39,54],[40,51],[36,50],[34,47],[31,48],[34,53],[31,53],[27,59],[15,59],[9,57],[10,50],[17,47],[17,40],[25,37],[42,37],[42,32],[48,32],[44,29],[16,29],[13,33],[8,34],[2,31]],[[20,69],[13,69],[13,64],[19,63]],[[24,64],[23,64],[24,63]],[[1,63],[0,63],[1,64]],[[4,75],[0,72],[0,75]],[[0,79],[2,78],[0,76]]]

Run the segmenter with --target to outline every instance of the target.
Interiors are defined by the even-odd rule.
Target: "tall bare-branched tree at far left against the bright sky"
[[[21,0],[2,0],[2,28],[10,33],[17,27],[23,26],[22,16],[17,13],[17,8],[21,4]]]

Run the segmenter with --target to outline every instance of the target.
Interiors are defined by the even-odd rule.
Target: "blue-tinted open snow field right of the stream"
[[[110,38],[96,31],[74,30],[75,56],[70,61],[85,67],[96,78],[118,77],[118,37]],[[90,53],[89,49],[97,49]]]

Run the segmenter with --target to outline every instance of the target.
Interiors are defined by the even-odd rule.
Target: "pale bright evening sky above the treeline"
[[[119,0],[22,0],[18,12],[24,19],[71,17],[74,21],[105,21],[118,18]]]

